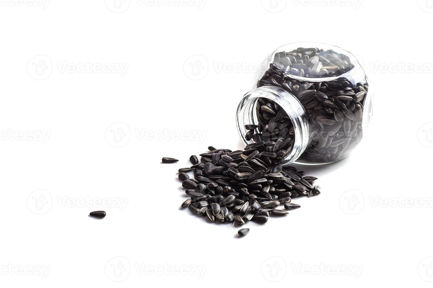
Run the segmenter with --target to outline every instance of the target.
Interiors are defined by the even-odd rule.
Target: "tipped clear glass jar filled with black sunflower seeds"
[[[261,67],[269,68],[257,73],[236,113],[245,145],[263,141],[263,152],[281,165],[318,165],[347,157],[359,144],[371,120],[373,94],[350,52],[291,43]]]

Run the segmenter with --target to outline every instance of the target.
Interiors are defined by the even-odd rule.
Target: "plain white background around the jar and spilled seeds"
[[[431,0],[123,1],[0,0],[2,287],[431,287]],[[255,68],[300,41],[359,57],[370,137],[238,239],[177,170],[242,148]]]

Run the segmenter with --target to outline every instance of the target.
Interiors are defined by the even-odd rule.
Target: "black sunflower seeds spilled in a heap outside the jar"
[[[288,210],[299,208],[291,203],[291,197],[320,194],[320,187],[313,186],[317,178],[303,177],[303,171],[278,164],[281,157],[276,155],[282,142],[260,141],[243,151],[210,146],[209,152],[200,154],[200,161],[192,155],[192,166],[179,169],[178,178],[190,196],[181,206],[211,222],[235,221],[239,225],[249,220],[266,223],[270,214],[287,215]],[[187,172],[193,172],[194,178]],[[280,205],[285,210],[278,209]]]

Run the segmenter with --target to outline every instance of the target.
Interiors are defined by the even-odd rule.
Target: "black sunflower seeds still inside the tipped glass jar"
[[[323,64],[325,63],[325,64]],[[326,65],[326,66],[324,66]],[[368,82],[352,84],[347,78],[332,81],[300,81],[293,75],[304,77],[339,76],[353,68],[348,56],[332,50],[298,48],[279,52],[269,69],[258,81],[257,87],[276,85],[293,94],[304,106],[310,124],[309,146],[298,162],[325,163],[345,158],[362,139],[362,115]],[[260,98],[257,102],[258,131],[249,139],[255,142],[293,135],[293,127],[284,118],[285,112],[272,101]],[[247,140],[249,140],[247,138]],[[284,158],[291,152],[292,143],[283,148]],[[282,152],[281,152],[282,153]]]

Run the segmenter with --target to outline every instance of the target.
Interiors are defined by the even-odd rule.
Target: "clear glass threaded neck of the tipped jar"
[[[287,165],[296,161],[308,146],[310,138],[310,128],[308,117],[301,102],[294,97],[293,94],[275,85],[265,85],[255,88],[244,95],[239,103],[236,112],[236,124],[238,127],[239,136],[245,145],[253,141],[247,141],[245,138],[248,132],[245,129],[246,124],[259,124],[257,115],[257,101],[259,98],[266,98],[277,103],[284,111],[286,111],[294,128],[294,145],[291,153],[281,162],[281,165]]]

